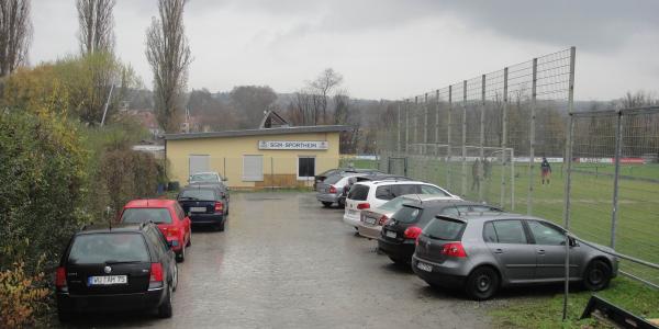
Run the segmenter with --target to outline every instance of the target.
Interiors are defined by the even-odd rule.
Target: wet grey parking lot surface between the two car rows
[[[313,193],[234,193],[226,231],[197,229],[174,317],[109,315],[81,327],[481,328],[483,304],[431,290]]]

